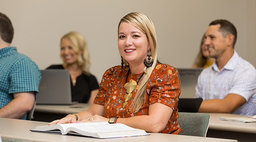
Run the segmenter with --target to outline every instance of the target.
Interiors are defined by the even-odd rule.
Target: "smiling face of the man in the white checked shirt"
[[[219,32],[220,24],[211,25],[205,33],[204,44],[207,46],[209,56],[212,58],[221,58],[227,50],[227,38]]]

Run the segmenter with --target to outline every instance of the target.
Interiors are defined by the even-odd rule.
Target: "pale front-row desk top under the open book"
[[[114,139],[96,139],[82,136],[67,136],[50,133],[30,132],[38,125],[47,122],[37,122],[20,119],[0,118],[0,135],[2,139],[26,139],[37,142],[237,142],[231,139],[217,139],[197,136],[182,136],[163,133],[150,133],[150,136],[135,136]]]

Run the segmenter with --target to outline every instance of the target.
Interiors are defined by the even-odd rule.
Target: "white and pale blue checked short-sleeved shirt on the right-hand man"
[[[219,70],[216,62],[205,68],[198,77],[196,98],[223,99],[227,94],[238,94],[246,103],[234,114],[256,115],[256,70],[235,51],[227,64]]]

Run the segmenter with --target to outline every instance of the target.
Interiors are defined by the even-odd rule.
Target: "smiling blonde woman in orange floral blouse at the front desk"
[[[125,15],[118,26],[121,66],[108,69],[92,106],[56,123],[123,123],[147,132],[179,134],[177,70],[157,61],[154,25],[143,13]]]

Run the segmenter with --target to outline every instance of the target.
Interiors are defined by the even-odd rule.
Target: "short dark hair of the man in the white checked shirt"
[[[236,44],[236,38],[237,38],[237,32],[236,32],[236,27],[228,20],[214,20],[212,21],[209,26],[211,25],[217,25],[220,24],[219,31],[222,33],[223,37],[226,37],[229,34],[234,35],[234,41],[233,41],[233,48],[235,47]]]

